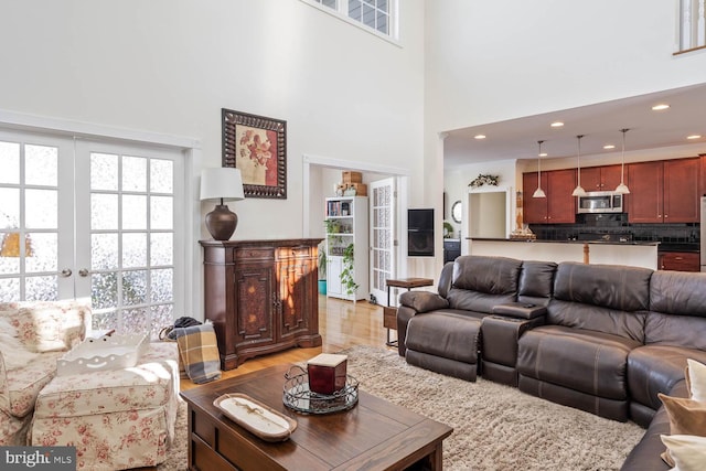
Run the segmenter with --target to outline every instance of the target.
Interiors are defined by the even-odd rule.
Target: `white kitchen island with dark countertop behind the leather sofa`
[[[523,240],[467,238],[470,255],[493,255],[539,261],[629,265],[657,269],[659,242]]]

